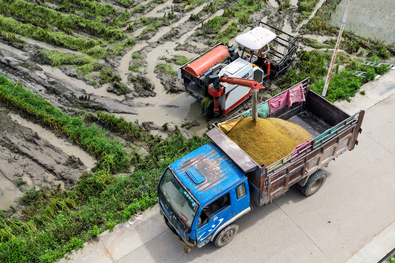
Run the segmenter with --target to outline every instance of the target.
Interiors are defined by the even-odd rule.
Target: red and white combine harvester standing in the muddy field
[[[260,86],[269,76],[288,69],[299,47],[295,37],[263,22],[238,36],[236,42],[241,54],[220,43],[178,70],[178,79],[183,79],[187,91],[201,101],[207,118],[229,113],[254,94],[249,81]],[[234,80],[229,83],[224,77]],[[210,89],[210,84],[220,91]]]

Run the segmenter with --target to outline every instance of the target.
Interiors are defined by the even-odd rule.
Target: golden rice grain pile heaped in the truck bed
[[[227,135],[260,165],[276,162],[311,139],[299,125],[277,118],[244,118]]]

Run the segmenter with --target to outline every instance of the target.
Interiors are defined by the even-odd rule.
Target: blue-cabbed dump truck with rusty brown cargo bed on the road
[[[251,201],[270,204],[293,185],[307,196],[316,193],[326,179],[320,168],[358,144],[364,111],[349,115],[310,90],[310,78],[300,83],[306,101],[268,117],[305,128],[313,139],[304,147],[273,164],[259,165],[214,123],[206,132],[212,142],[166,168],[158,187],[160,214],[186,252],[210,241],[217,247],[228,244],[237,234],[237,219],[251,210]]]

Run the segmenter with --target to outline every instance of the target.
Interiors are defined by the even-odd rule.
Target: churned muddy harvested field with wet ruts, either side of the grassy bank
[[[202,135],[212,122],[248,109],[250,100],[227,116],[206,119],[200,102],[177,80],[180,61],[195,58],[216,42],[234,44],[236,36],[259,21],[298,36],[324,2],[314,1],[302,16],[302,1],[102,0],[93,1],[102,8],[95,9],[80,6],[80,1],[62,5],[57,0],[18,0],[14,5],[1,0],[6,8],[0,14],[0,73],[71,116],[102,111],[143,123],[162,138],[168,136],[162,127],[166,124],[177,125],[187,137]],[[32,6],[46,20],[40,20],[39,13],[31,19]],[[55,13],[58,19],[51,18]],[[58,21],[73,15],[73,21],[76,17],[81,21],[69,25]],[[216,17],[224,19],[214,33],[206,34],[205,30],[211,30],[208,22]],[[35,27],[32,31],[23,28],[29,21]],[[44,33],[47,38],[42,37]],[[306,37],[321,44],[333,38]],[[314,49],[303,41],[300,47]],[[260,101],[278,90],[274,83],[266,83]],[[95,165],[94,157],[78,146],[3,102],[0,123],[2,210],[16,206],[16,199],[29,189],[71,188]],[[113,136],[127,147],[121,137]],[[132,148],[143,156],[148,154],[143,147]]]

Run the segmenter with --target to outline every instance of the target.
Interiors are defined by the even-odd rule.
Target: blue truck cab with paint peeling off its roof
[[[201,247],[250,211],[247,177],[215,144],[208,143],[170,164],[159,183],[160,213],[188,247]],[[238,226],[237,226],[238,229]],[[222,233],[229,243],[237,229]]]

